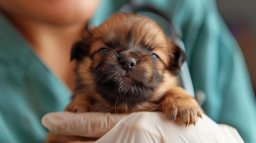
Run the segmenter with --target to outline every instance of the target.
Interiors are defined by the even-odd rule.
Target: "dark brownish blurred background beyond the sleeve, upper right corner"
[[[218,10],[240,45],[256,93],[256,0],[216,0]]]

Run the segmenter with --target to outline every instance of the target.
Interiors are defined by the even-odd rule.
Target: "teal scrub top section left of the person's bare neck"
[[[42,143],[41,118],[69,101],[67,87],[0,15],[0,143]]]

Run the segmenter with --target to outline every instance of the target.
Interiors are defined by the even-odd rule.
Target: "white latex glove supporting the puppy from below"
[[[180,125],[162,112],[46,114],[43,125],[63,135],[99,138],[94,143],[244,143],[235,128],[217,124],[207,115],[196,125]]]

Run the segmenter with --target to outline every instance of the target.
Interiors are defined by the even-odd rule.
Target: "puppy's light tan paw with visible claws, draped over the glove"
[[[202,108],[186,92],[167,92],[162,101],[162,111],[173,122],[190,125],[202,118]]]

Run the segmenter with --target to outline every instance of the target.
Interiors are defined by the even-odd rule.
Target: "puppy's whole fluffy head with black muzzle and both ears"
[[[155,21],[116,13],[72,49],[72,59],[79,62],[78,92],[83,89],[96,102],[124,104],[130,110],[157,102],[177,85],[174,74],[184,61],[182,54]]]

